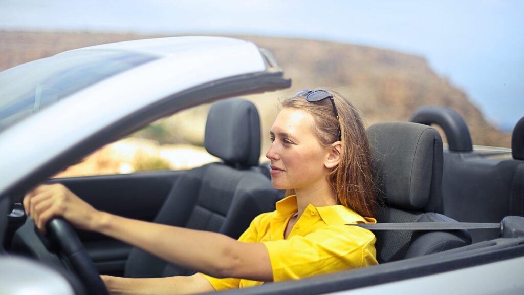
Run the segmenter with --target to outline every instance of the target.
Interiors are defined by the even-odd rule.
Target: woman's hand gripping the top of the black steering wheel
[[[24,209],[45,233],[46,223],[61,216],[74,227],[93,230],[100,212],[61,184],[40,185],[24,197]]]

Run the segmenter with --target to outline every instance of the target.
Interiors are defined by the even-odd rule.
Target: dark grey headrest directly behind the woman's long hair
[[[441,213],[442,139],[435,129],[385,122],[367,130],[378,195],[406,210]]]

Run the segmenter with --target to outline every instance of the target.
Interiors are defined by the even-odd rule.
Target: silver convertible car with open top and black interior
[[[290,85],[271,52],[219,37],[93,46],[1,72],[0,293],[107,294],[100,274],[192,273],[60,218],[42,235],[21,199],[58,182],[107,212],[238,237],[282,198],[259,163],[257,109],[238,97]],[[160,118],[211,102],[204,145],[220,161],[51,178]],[[379,265],[223,293],[524,293],[524,120],[511,150],[473,146],[452,110],[422,108],[410,121],[368,129],[377,225],[398,225],[370,228]],[[444,130],[445,148],[432,124]]]

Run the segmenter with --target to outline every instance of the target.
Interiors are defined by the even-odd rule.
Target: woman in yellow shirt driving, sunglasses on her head
[[[271,127],[271,183],[286,189],[276,211],[238,239],[100,212],[62,185],[24,198],[45,230],[53,216],[198,270],[190,277],[102,276],[111,293],[195,293],[249,287],[377,264],[375,237],[348,223],[375,223],[370,152],[361,117],[340,94],[303,90],[283,101]],[[366,217],[363,217],[366,216]]]

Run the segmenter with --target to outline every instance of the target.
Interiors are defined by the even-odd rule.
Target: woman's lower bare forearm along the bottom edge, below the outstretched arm
[[[190,277],[129,279],[101,276],[111,294],[194,294],[212,292],[213,286],[199,273]]]

